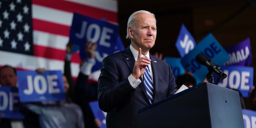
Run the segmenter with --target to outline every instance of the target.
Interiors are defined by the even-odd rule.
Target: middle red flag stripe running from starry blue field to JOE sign
[[[44,20],[33,19],[33,30],[39,30],[43,32],[69,37],[70,26],[47,22]]]

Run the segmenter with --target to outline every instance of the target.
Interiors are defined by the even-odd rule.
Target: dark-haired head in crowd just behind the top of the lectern
[[[191,74],[181,74],[176,78],[177,87],[180,88],[182,85],[190,88],[196,85],[196,79]]]

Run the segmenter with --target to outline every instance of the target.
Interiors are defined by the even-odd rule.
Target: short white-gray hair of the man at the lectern
[[[134,12],[128,19],[128,22],[127,22],[127,28],[126,28],[126,39],[131,39],[130,36],[129,36],[129,32],[128,32],[128,27],[131,27],[132,29],[135,28],[135,20],[136,20],[136,15],[137,14],[151,14],[152,16],[155,17],[155,14],[151,13],[151,12],[148,12],[146,10],[140,10],[140,11],[136,11]],[[155,17],[156,18],[156,17]]]

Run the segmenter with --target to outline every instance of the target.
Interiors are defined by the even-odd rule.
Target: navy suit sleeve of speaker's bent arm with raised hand
[[[135,90],[128,78],[121,81],[120,75],[123,75],[123,72],[117,68],[116,62],[109,56],[105,57],[98,79],[99,107],[104,112],[110,112],[122,104],[123,99]]]

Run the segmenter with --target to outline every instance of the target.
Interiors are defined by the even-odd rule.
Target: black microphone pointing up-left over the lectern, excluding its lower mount
[[[210,60],[209,58],[207,58],[206,56],[202,55],[202,54],[197,54],[196,55],[196,60],[206,66],[208,68],[209,71],[212,71],[212,73],[216,73],[217,75],[224,75],[226,76],[226,74],[224,74],[224,72],[222,72],[222,70],[220,70],[220,66],[219,65],[215,65],[212,60]]]

